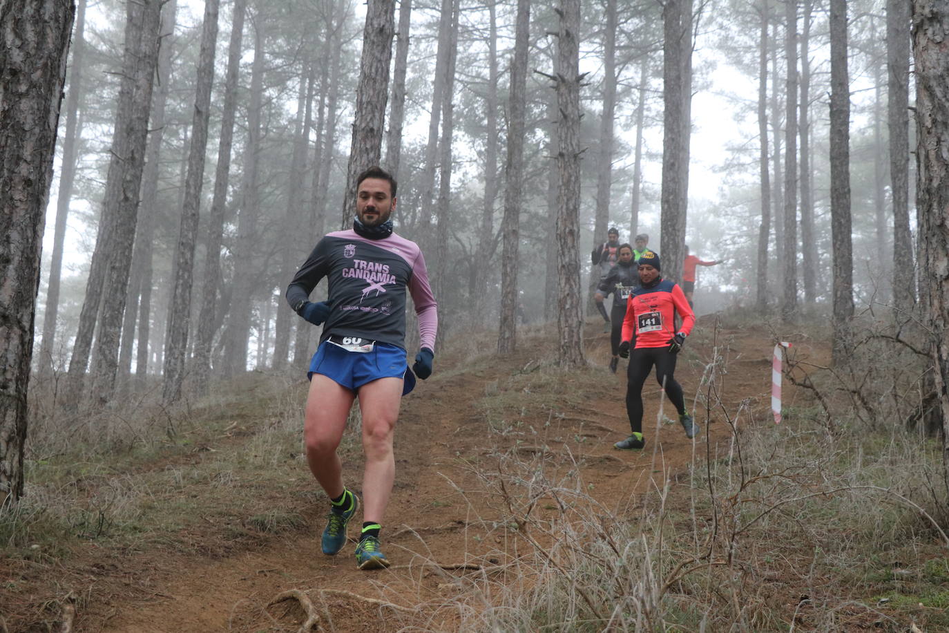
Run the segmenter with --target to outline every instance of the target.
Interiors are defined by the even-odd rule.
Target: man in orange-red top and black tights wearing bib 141
[[[639,261],[642,286],[632,291],[626,306],[623,343],[620,344],[619,352],[623,358],[629,357],[626,414],[629,416],[632,435],[613,444],[618,449],[641,449],[645,445],[645,439],[642,438],[642,385],[654,364],[656,380],[665,388],[669,401],[679,412],[679,423],[685,429],[685,437],[691,439],[698,433],[698,424],[685,411],[682,387],[673,377],[676,355],[685,343],[685,337],[692,331],[696,316],[685,300],[682,289],[662,279],[660,270],[659,255],[646,251]],[[677,312],[682,319],[678,332],[674,329]]]

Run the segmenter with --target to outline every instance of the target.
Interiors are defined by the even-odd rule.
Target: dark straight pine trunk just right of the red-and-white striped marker
[[[853,316],[850,228],[850,88],[847,1],[830,0],[830,233],[833,239],[833,363],[847,361]]]

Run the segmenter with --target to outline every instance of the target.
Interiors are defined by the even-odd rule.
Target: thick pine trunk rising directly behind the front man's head
[[[343,226],[352,222],[355,212],[356,177],[380,162],[395,21],[396,5],[392,0],[369,0],[365,11],[360,79],[356,88],[356,115],[346,169]]]

